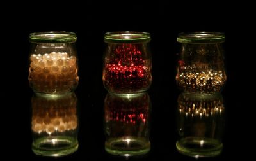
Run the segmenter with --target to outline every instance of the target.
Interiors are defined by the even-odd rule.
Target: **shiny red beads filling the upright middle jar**
[[[144,53],[145,54],[145,53]],[[150,60],[138,45],[123,44],[105,58],[104,86],[111,92],[127,93],[147,90],[152,81]]]

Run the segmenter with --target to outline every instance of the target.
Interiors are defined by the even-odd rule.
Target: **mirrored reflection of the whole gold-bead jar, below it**
[[[179,95],[177,150],[192,157],[212,157],[222,151],[225,108],[220,93]]]

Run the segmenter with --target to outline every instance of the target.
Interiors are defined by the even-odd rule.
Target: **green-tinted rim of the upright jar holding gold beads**
[[[182,32],[178,35],[179,43],[223,43],[225,34],[222,32]]]

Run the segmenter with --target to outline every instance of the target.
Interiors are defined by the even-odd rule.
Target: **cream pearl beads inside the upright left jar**
[[[63,93],[77,86],[76,57],[66,52],[31,55],[29,82],[37,92]]]

